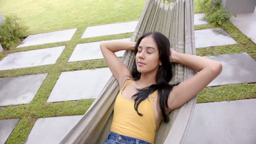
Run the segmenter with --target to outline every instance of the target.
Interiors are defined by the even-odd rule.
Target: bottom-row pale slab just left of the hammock
[[[26,144],[56,144],[65,137],[83,115],[38,118]]]

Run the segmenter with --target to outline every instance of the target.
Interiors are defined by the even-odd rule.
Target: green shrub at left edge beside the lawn
[[[4,23],[0,25],[0,44],[4,50],[20,43],[20,38],[26,37],[27,27],[15,15],[5,15]]]

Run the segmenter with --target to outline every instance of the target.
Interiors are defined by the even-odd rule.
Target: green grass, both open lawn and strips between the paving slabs
[[[144,1],[0,1],[0,13],[18,14],[30,27],[30,34],[78,28],[70,41],[10,49],[0,53],[3,59],[8,53],[66,46],[55,64],[38,67],[0,71],[0,78],[48,73],[42,86],[30,104],[0,107],[0,119],[20,118],[6,143],[25,143],[37,118],[84,114],[94,99],[46,103],[55,83],[63,71],[96,69],[107,67],[104,59],[68,63],[77,44],[101,40],[130,38],[132,33],[107,35],[80,39],[88,26],[103,25],[138,20]],[[102,5],[99,5],[99,4]],[[114,4],[115,3],[115,4]],[[79,8],[74,7],[76,5]],[[115,11],[114,9],[117,9]],[[196,10],[196,8],[195,8]],[[104,13],[103,13],[104,12]],[[60,19],[59,19],[60,18]],[[211,24],[195,26],[195,30],[216,28]],[[222,55],[247,52],[256,59],[256,45],[242,34],[232,23],[226,22],[222,28],[237,41],[235,45],[214,46],[196,49],[199,56]],[[227,86],[207,87],[199,93],[197,103],[212,101],[256,98],[256,84],[243,83]]]

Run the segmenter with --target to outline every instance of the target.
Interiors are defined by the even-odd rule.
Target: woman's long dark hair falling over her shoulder
[[[152,37],[155,39],[156,44],[158,46],[159,50],[159,59],[162,63],[162,65],[159,65],[158,72],[156,74],[155,80],[156,85],[151,85],[149,87],[143,88],[143,89],[137,89],[138,93],[135,95],[132,95],[132,97],[135,98],[135,104],[134,108],[137,111],[139,116],[142,116],[142,113],[138,112],[138,105],[141,103],[141,101],[148,98],[148,95],[153,93],[154,91],[158,90],[158,111],[159,111],[159,105],[160,105],[160,112],[162,117],[164,118],[164,122],[169,122],[170,119],[167,117],[166,112],[170,110],[168,107],[167,101],[168,101],[168,95],[170,94],[172,88],[174,85],[169,85],[168,82],[172,79],[172,67],[171,67],[171,61],[170,61],[170,42],[168,38],[165,37],[165,35],[159,33],[159,32],[149,32],[143,34],[137,41],[137,44],[135,46],[135,55],[138,52],[138,46],[139,43],[141,43],[141,40],[149,35],[152,35]],[[136,61],[133,63],[132,67],[132,77],[133,80],[138,80],[141,77],[141,73],[138,72]]]

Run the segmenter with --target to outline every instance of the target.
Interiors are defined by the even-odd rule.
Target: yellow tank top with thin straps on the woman
[[[153,98],[143,100],[138,106],[138,112],[143,116],[139,116],[134,109],[133,100],[125,99],[122,96],[124,88],[130,83],[128,80],[122,91],[119,92],[114,104],[113,122],[110,131],[120,135],[135,137],[150,143],[154,143],[155,138],[155,115],[153,109],[153,98],[157,91],[152,95]]]

